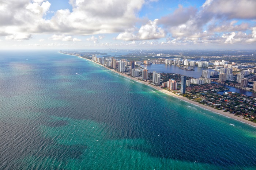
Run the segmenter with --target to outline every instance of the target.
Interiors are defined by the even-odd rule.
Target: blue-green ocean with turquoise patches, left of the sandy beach
[[[57,51],[0,52],[0,136],[0,169],[256,169],[255,127]]]

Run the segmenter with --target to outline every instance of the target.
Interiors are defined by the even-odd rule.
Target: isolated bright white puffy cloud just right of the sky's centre
[[[116,39],[118,40],[145,40],[145,39],[159,39],[165,37],[165,31],[157,26],[158,19],[154,21],[149,20],[147,24],[140,27],[138,33],[135,35],[135,29],[126,30],[120,33]]]

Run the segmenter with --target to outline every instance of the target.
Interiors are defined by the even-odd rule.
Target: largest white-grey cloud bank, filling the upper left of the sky
[[[46,20],[44,16],[50,8],[47,0],[0,1],[0,12],[4,13],[0,16],[0,32],[72,35],[120,32],[133,27],[139,20],[137,14],[144,0],[70,0],[69,3],[72,11],[60,9]]]

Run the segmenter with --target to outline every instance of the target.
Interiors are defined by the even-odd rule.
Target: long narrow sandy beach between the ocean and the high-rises
[[[62,53],[61,53],[61,54],[62,54]],[[71,55],[71,54],[67,54],[67,55]],[[96,63],[96,64],[98,64],[98,65],[103,66],[102,64],[97,63],[97,62],[95,62],[95,61],[92,61],[92,60],[90,60],[90,59],[83,58],[83,57],[80,57],[80,56],[77,56],[77,55],[74,55],[74,56],[79,57],[79,58],[82,58],[82,59],[86,59],[86,60],[88,60],[88,61],[91,61],[91,62],[94,62],[94,63]],[[105,66],[103,66],[103,67],[105,67]],[[217,113],[217,114],[220,114],[220,115],[229,117],[229,118],[231,118],[231,119],[240,121],[240,122],[242,122],[242,123],[246,123],[246,124],[251,125],[251,126],[253,126],[253,127],[256,127],[256,123],[254,123],[254,122],[252,122],[252,121],[249,121],[249,120],[245,120],[245,119],[243,119],[243,117],[238,117],[238,116],[236,116],[236,115],[234,115],[234,114],[232,114],[232,113],[224,112],[223,110],[217,110],[217,109],[215,109],[215,108],[212,108],[212,107],[209,107],[209,106],[206,106],[206,105],[197,103],[196,101],[189,100],[188,98],[183,97],[183,96],[178,96],[177,94],[174,94],[174,93],[172,93],[172,92],[170,92],[170,91],[167,91],[167,90],[165,90],[165,89],[162,89],[162,88],[160,88],[160,87],[158,87],[158,86],[151,85],[151,84],[149,84],[148,82],[140,81],[140,80],[138,80],[138,79],[136,79],[136,78],[134,78],[134,77],[127,76],[126,74],[117,72],[116,70],[110,69],[109,67],[105,67],[105,68],[108,69],[108,70],[110,70],[110,71],[112,71],[112,72],[114,72],[114,73],[118,73],[118,74],[120,74],[121,76],[127,77],[127,78],[129,78],[129,79],[131,79],[131,80],[134,80],[134,81],[136,81],[136,82],[139,82],[139,83],[145,84],[145,85],[147,85],[147,86],[150,86],[150,87],[152,87],[152,88],[154,88],[154,89],[156,89],[156,90],[159,90],[159,91],[161,91],[161,92],[163,92],[163,93],[165,93],[165,94],[168,94],[168,95],[170,95],[170,96],[179,98],[179,99],[181,99],[181,100],[183,100],[183,101],[186,101],[186,102],[188,102],[188,103],[191,103],[191,104],[196,105],[196,106],[198,106],[198,107],[201,107],[201,108],[203,108],[203,109],[212,111],[212,112],[214,112],[214,113]]]

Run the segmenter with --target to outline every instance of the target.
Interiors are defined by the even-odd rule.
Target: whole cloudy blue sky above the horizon
[[[0,49],[256,49],[256,0],[0,0]]]

